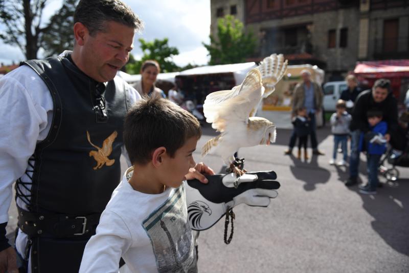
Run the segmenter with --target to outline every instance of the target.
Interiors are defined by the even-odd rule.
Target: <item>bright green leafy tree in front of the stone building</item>
[[[217,21],[217,38],[210,35],[210,44],[203,46],[209,51],[209,65],[237,64],[245,61],[256,49],[252,32],[243,31],[243,23],[232,15]]]

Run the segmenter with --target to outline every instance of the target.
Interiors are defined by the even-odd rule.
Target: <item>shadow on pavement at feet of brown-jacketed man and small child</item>
[[[311,156],[311,152],[309,156]],[[313,191],[316,188],[316,184],[324,184],[328,182],[331,173],[327,169],[318,165],[317,156],[312,156],[310,162],[301,161],[293,155],[290,155],[290,158],[294,163],[294,165],[290,166],[290,171],[296,179],[305,182],[305,191]]]

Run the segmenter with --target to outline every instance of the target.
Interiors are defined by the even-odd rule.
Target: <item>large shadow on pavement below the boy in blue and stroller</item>
[[[360,194],[357,186],[349,189],[362,198],[362,207],[374,218],[375,232],[393,249],[409,256],[409,179],[382,184],[376,195]]]

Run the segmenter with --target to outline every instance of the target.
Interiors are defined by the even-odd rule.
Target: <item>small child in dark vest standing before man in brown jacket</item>
[[[308,159],[307,153],[307,141],[310,134],[310,121],[307,115],[307,109],[300,107],[297,109],[297,116],[293,117],[292,124],[294,125],[294,131],[298,138],[298,159],[301,159],[301,147],[304,147],[304,160]]]

